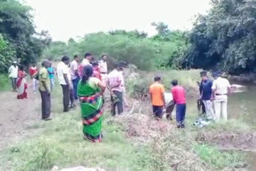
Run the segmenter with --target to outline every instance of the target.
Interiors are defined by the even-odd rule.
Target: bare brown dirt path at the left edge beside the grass
[[[18,100],[14,92],[0,93],[0,151],[31,135],[27,126],[40,121],[40,94],[32,93],[30,87],[27,92],[28,98],[24,100]]]

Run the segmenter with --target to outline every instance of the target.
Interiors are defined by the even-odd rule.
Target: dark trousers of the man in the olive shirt
[[[40,94],[42,99],[42,119],[46,119],[50,117],[50,94],[41,90]]]

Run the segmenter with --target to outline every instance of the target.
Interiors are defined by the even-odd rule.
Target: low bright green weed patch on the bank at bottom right
[[[194,151],[198,153],[202,161],[206,161],[206,163],[218,169],[234,167],[234,165],[242,163],[244,158],[240,153],[220,152],[217,148],[210,145],[194,145]]]

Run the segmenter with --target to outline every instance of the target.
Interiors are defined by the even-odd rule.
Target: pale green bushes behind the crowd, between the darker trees
[[[179,68],[174,58],[180,56],[179,51],[185,44],[185,34],[180,31],[168,31],[168,34],[147,38],[146,33],[137,30],[115,30],[108,34],[88,34],[79,42],[74,42],[73,39],[68,44],[54,42],[45,50],[44,58],[60,59],[62,55],[74,54],[83,57],[86,52],[91,52],[96,57],[108,54],[113,62],[133,63],[140,70],[152,70],[154,67]]]

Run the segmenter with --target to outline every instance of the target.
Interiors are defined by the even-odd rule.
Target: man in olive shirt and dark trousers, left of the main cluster
[[[42,62],[42,68],[39,70],[39,91],[42,98],[42,120],[49,121],[50,118],[50,78],[47,68],[50,66],[48,60]]]

